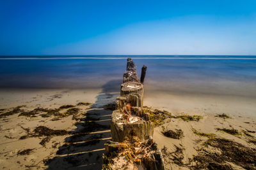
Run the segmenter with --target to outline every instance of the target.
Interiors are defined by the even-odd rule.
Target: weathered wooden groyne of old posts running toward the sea
[[[154,124],[150,114],[143,111],[146,71],[143,66],[139,80],[133,60],[127,59],[120,96],[111,117],[111,141],[104,145],[102,169],[165,169],[161,150],[152,138]]]

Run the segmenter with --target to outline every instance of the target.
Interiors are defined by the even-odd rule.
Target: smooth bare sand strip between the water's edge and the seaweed
[[[99,94],[118,96],[118,88],[110,89],[0,89],[0,108],[12,108],[20,105],[36,106],[38,102],[45,106],[74,104],[76,101],[95,102]],[[56,99],[54,99],[54,96]],[[54,99],[54,103],[51,103]],[[112,97],[113,99],[113,97]],[[113,99],[115,100],[115,99]],[[109,100],[111,102],[111,100]],[[256,118],[255,97],[220,94],[177,94],[164,90],[146,89],[145,106],[168,110],[179,115],[207,114],[242,115]],[[98,103],[98,105],[102,105]]]

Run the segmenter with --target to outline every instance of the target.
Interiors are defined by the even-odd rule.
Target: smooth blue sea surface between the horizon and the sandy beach
[[[0,88],[119,89],[131,57],[146,90],[256,97],[256,56],[104,55],[0,57]]]

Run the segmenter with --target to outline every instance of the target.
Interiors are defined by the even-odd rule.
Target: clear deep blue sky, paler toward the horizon
[[[256,1],[0,1],[0,55],[256,55]]]

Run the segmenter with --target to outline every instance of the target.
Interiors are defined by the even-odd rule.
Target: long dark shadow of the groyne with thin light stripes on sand
[[[86,117],[76,124],[72,136],[65,138],[65,145],[60,146],[56,157],[45,162],[47,169],[102,169],[104,143],[111,139],[111,110],[103,106],[115,101],[120,94],[122,80],[111,80],[102,86],[97,101],[91,105]]]

